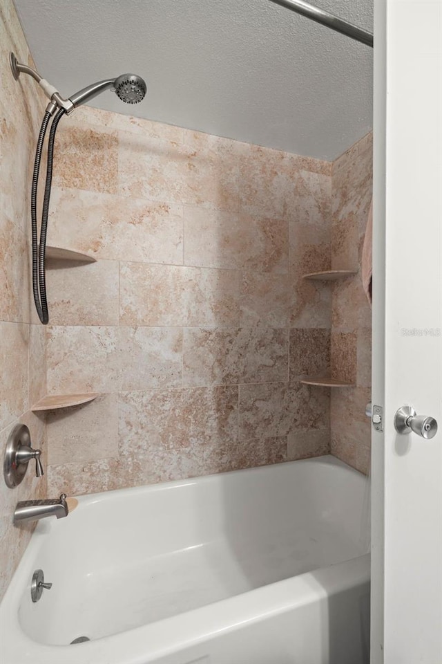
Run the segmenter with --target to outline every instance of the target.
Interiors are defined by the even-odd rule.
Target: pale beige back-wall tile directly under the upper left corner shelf
[[[46,289],[52,325],[117,325],[119,264],[48,260]]]

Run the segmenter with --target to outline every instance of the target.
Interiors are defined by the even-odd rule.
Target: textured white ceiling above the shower
[[[310,1],[372,31],[373,0]],[[15,4],[39,72],[66,97],[133,72],[141,104],[106,92],[92,105],[327,160],[372,127],[372,48],[269,0]]]

